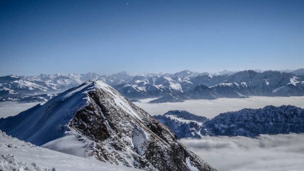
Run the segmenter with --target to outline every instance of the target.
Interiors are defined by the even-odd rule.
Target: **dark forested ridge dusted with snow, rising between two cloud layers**
[[[295,106],[244,108],[221,113],[212,119],[179,110],[153,117],[172,129],[178,138],[202,135],[254,137],[259,134],[304,132],[304,109]]]

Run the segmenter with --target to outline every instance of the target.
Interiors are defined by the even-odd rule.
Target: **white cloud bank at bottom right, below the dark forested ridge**
[[[218,171],[303,171],[304,134],[209,137],[181,143]]]

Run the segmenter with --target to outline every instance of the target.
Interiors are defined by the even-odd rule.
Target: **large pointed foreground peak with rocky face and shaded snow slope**
[[[0,129],[51,150],[150,171],[215,171],[143,109],[101,81],[0,119]]]

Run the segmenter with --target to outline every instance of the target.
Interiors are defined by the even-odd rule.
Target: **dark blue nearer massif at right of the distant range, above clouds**
[[[152,103],[182,102],[189,99],[245,98],[249,96],[303,96],[304,78],[279,71],[246,70],[233,75],[197,76],[196,85],[185,92],[165,95]]]

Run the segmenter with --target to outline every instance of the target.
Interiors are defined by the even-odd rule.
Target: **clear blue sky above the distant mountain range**
[[[302,67],[304,0],[0,0],[0,75]]]

